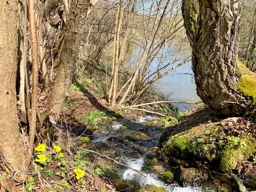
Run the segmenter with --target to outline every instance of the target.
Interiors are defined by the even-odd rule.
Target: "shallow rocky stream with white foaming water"
[[[184,187],[178,184],[165,183],[161,180],[160,175],[142,170],[148,154],[152,153],[152,149],[157,148],[158,139],[163,131],[163,128],[159,126],[149,125],[154,118],[154,116],[144,116],[136,120],[117,119],[111,122],[112,124],[106,124],[104,129],[94,136],[93,143],[94,145],[97,143],[106,145],[109,149],[115,150],[115,158],[120,163],[145,174],[146,177],[143,177],[125,167],[122,167],[121,170],[124,180],[136,182],[141,188],[144,188],[146,184],[154,184],[165,187],[169,192],[202,192],[200,187],[187,186],[185,183],[183,183]],[[136,140],[133,137],[137,137]],[[155,154],[156,156],[157,154]]]

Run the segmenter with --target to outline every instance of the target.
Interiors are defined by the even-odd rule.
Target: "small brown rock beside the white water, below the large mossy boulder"
[[[183,166],[180,166],[180,180],[187,184],[201,184],[208,180],[208,174],[196,168],[183,168]]]

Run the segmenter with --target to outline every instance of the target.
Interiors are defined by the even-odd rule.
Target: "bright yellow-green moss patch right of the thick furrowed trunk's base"
[[[246,96],[249,100],[256,102],[256,78],[250,75],[242,75],[239,84],[236,87]]]

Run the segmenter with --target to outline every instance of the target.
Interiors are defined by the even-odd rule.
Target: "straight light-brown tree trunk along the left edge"
[[[15,170],[25,170],[25,148],[16,107],[17,3],[0,0],[0,153]]]

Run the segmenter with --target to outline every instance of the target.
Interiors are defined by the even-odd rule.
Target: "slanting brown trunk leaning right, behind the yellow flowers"
[[[89,5],[90,0],[72,0],[70,4],[70,15],[68,16],[67,31],[64,37],[58,73],[49,98],[49,110],[51,113],[58,114],[64,105],[66,96],[68,96]]]

